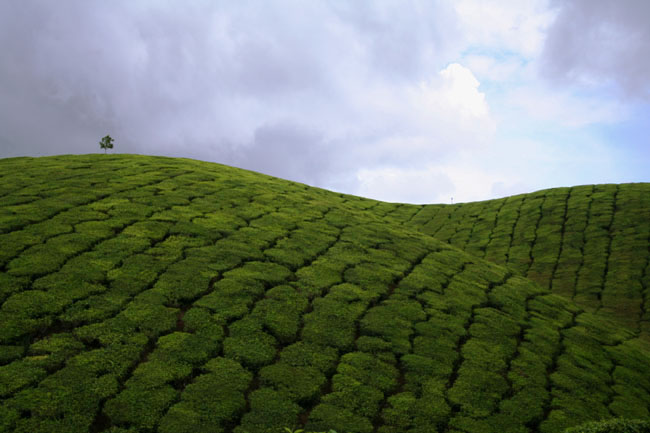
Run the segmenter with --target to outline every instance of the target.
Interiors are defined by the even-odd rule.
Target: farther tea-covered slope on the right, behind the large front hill
[[[650,341],[650,184],[555,188],[389,216],[498,264]]]

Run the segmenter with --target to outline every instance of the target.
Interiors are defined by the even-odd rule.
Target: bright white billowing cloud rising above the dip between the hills
[[[469,167],[466,158],[486,151],[496,132],[485,94],[469,68],[451,63],[411,86],[399,97],[378,98],[408,133],[383,136],[372,145],[378,155],[356,171],[356,194],[409,203],[478,200],[498,178]],[[399,101],[399,103],[395,103]],[[392,108],[391,108],[392,107]],[[462,166],[456,164],[462,163]]]

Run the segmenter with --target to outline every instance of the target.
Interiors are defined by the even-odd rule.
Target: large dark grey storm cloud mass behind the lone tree
[[[0,157],[96,152],[110,133],[116,152],[349,177],[399,153],[377,156],[391,113],[368,95],[435,76],[455,31],[417,1],[2,2]]]

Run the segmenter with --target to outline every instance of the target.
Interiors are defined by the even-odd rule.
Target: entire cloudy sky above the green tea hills
[[[185,157],[392,202],[650,181],[647,0],[0,2],[0,158]]]

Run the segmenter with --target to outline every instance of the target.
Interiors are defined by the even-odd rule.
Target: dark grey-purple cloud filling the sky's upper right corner
[[[650,99],[650,2],[557,1],[543,72],[585,86],[612,84],[626,96]]]

